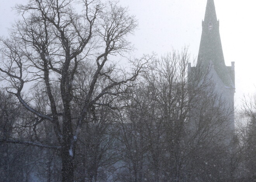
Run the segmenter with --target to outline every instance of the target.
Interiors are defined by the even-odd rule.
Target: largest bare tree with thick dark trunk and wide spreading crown
[[[53,125],[58,145],[4,140],[60,150],[63,182],[74,179],[77,140],[93,105],[104,95],[123,92],[120,86],[135,80],[150,59],[132,61],[132,74],[118,73],[113,66],[110,70],[104,69],[111,65],[109,56],[122,55],[132,49],[127,35],[133,32],[137,22],[126,8],[117,3],[82,0],[83,12],[80,14],[73,7],[74,3],[77,2],[29,0],[27,5],[17,5],[16,10],[23,19],[10,29],[9,39],[1,39],[0,48],[0,71],[7,85],[5,89],[35,114],[38,122]],[[78,66],[86,62],[95,64],[83,90],[80,111],[73,118],[72,101],[76,77],[80,74]],[[116,71],[114,77],[110,74],[113,70]],[[101,78],[105,78],[106,84],[97,87]],[[45,85],[45,90],[42,90],[48,97],[45,111],[35,109],[33,98],[29,101],[22,96],[22,92],[26,92],[24,87],[38,83]],[[60,100],[54,96],[55,85],[58,85]]]

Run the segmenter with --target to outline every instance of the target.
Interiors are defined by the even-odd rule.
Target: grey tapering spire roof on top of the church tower
[[[214,0],[208,0],[204,21],[202,21],[197,66],[208,67],[209,63],[212,63],[222,82],[228,87],[234,87],[224,61],[219,25]]]

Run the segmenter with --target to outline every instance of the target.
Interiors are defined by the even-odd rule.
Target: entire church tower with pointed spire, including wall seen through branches
[[[202,112],[204,112],[201,110],[201,107],[204,106],[205,101],[209,101],[209,103],[212,105],[209,105],[206,111],[211,109],[216,111],[216,108],[218,108],[220,109],[218,111],[223,111],[223,114],[225,113],[225,115],[228,114],[228,116],[225,117],[225,121],[223,120],[223,124],[220,125],[220,130],[216,130],[218,133],[219,131],[220,133],[224,131],[223,134],[227,136],[227,139],[223,139],[223,143],[225,142],[228,144],[230,141],[232,141],[233,132],[235,130],[235,62],[231,62],[231,66],[225,65],[220,40],[219,25],[214,0],[208,0],[204,20],[202,21],[202,36],[197,65],[194,67],[191,66],[191,63],[188,64],[187,75],[189,88],[191,89],[191,92],[189,92],[189,97],[193,98],[192,100],[195,98],[195,102],[193,101],[191,103],[192,107],[189,120],[191,123],[191,128],[196,129],[196,123],[200,120],[200,115]],[[204,73],[207,73],[207,75],[204,75],[205,77],[198,77]],[[195,78],[195,80],[193,78]],[[208,83],[204,85],[204,79],[209,80],[209,85]],[[206,92],[197,94],[194,92],[194,88],[206,89]],[[208,88],[210,90],[208,90]],[[211,94],[209,94],[209,91]],[[215,100],[215,98],[218,99]],[[212,102],[212,100],[214,101]],[[215,122],[214,119],[211,122]]]

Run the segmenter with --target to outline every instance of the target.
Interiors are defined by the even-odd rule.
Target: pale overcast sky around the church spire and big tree
[[[17,19],[11,9],[26,0],[0,0],[0,35]],[[131,37],[136,56],[152,53],[161,56],[189,46],[196,57],[201,39],[207,0],[120,0],[136,15],[139,29]],[[236,104],[243,94],[256,92],[256,1],[214,0],[220,20],[221,42],[227,66],[235,61]]]

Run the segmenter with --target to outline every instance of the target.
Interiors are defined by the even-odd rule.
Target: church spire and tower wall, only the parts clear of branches
[[[215,92],[226,103],[226,108],[231,108],[229,116],[229,130],[234,131],[234,93],[235,93],[235,64],[226,66],[220,39],[220,22],[216,16],[214,0],[208,0],[204,20],[202,21],[202,36],[199,47],[197,65],[188,65],[188,78],[194,77],[193,70],[199,66],[200,69],[209,69],[211,82],[214,84]]]

